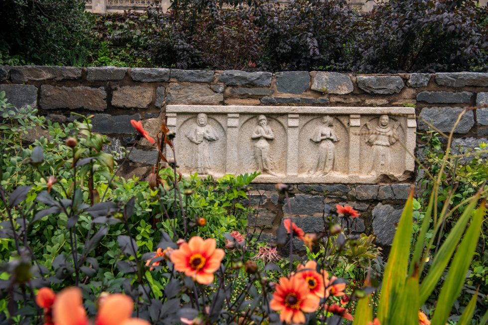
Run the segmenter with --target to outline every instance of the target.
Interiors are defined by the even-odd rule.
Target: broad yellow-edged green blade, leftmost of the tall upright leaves
[[[399,299],[405,286],[408,256],[410,255],[410,240],[412,238],[412,221],[413,189],[410,191],[408,200],[403,208],[384,270],[381,299],[378,306],[378,319],[382,325],[387,325],[388,320],[396,319],[396,317],[389,317],[389,315],[392,310],[392,302]]]

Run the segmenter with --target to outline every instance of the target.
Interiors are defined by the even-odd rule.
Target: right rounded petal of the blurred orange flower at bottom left
[[[100,307],[95,325],[120,325],[130,318],[133,309],[132,299],[126,295],[110,295]]]

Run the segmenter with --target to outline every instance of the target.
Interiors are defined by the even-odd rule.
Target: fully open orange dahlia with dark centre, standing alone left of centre
[[[213,238],[203,240],[199,236],[190,238],[171,253],[171,261],[177,271],[185,272],[193,280],[201,284],[214,281],[214,272],[220,267],[224,258],[223,249],[216,248],[217,242]]]

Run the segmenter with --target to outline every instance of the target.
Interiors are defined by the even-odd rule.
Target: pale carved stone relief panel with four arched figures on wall
[[[166,117],[184,174],[368,184],[414,170],[412,107],[168,105]]]

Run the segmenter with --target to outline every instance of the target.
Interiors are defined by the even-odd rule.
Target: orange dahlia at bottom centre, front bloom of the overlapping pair
[[[303,313],[313,313],[319,308],[320,298],[311,295],[307,283],[301,277],[282,277],[276,285],[269,307],[280,312],[282,322],[305,323]]]

